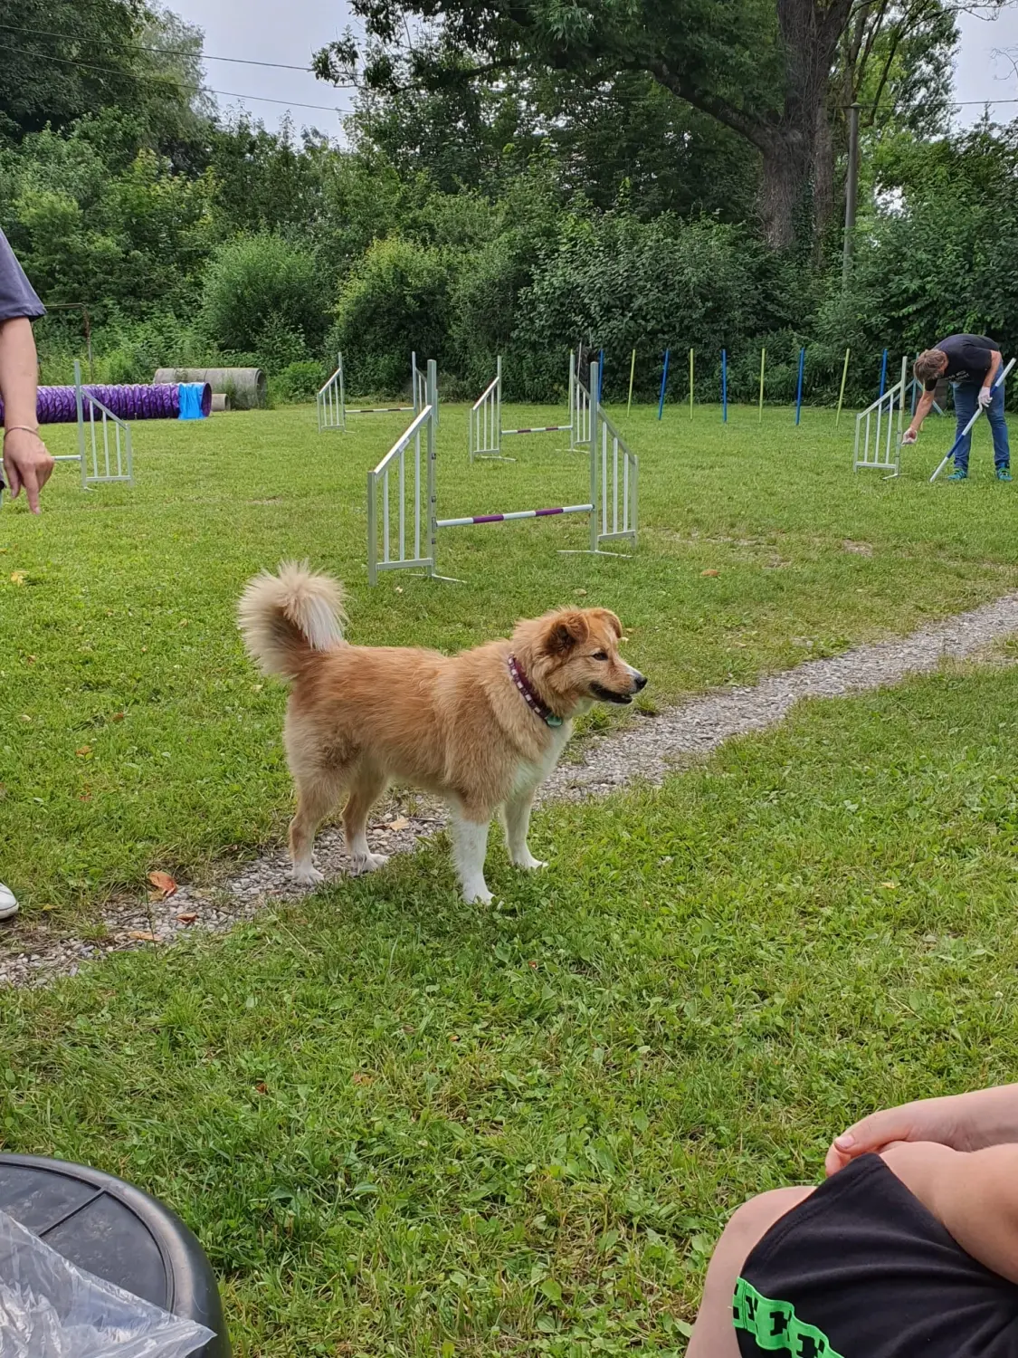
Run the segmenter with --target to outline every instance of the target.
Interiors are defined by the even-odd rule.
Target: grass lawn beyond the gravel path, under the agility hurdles
[[[991,479],[927,485],[950,437],[930,421],[888,483],[851,473],[852,420],[829,411],[619,413],[641,456],[641,539],[628,559],[561,555],[585,521],[451,530],[445,585],[387,576],[369,591],[365,473],[403,416],[352,417],[319,436],[314,409],[137,422],[137,485],[83,493],[71,467],[45,513],[0,513],[0,880],[80,929],[151,868],[193,877],[276,842],[289,809],[284,691],[244,659],[233,606],[247,576],[308,557],[350,591],[350,636],[453,650],[561,603],[620,614],[647,701],[827,655],[1018,583],[1015,492]],[[513,407],[506,422],[548,422]],[[73,430],[49,432],[71,451]],[[442,516],[576,502],[584,458],[547,435],[509,440],[516,463],[467,460],[466,407],[442,409]],[[704,577],[704,570],[717,576]],[[605,722],[599,716],[595,721]],[[84,918],[83,918],[84,917]]]

